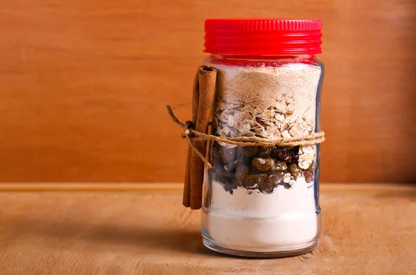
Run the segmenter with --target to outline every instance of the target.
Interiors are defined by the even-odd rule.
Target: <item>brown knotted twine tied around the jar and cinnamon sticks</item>
[[[192,141],[217,141],[221,143],[226,143],[230,145],[238,146],[299,146],[299,145],[315,145],[322,143],[324,138],[324,132],[314,132],[307,136],[297,136],[290,138],[275,138],[275,139],[266,139],[257,136],[238,136],[238,137],[228,137],[228,136],[214,136],[212,134],[204,134],[195,130],[195,125],[192,121],[187,121],[182,123],[177,119],[175,114],[173,114],[172,108],[169,105],[166,105],[168,109],[169,116],[171,116],[174,123],[179,125],[183,132],[181,134],[182,139],[187,139],[189,147],[192,148],[198,157],[205,163],[208,168],[212,168],[211,163],[205,159],[199,150],[192,144]]]

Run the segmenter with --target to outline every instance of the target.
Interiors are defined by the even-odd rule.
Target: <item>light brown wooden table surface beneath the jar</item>
[[[416,274],[416,186],[322,185],[318,249],[254,260],[203,247],[180,186],[144,186],[3,186],[0,274]]]

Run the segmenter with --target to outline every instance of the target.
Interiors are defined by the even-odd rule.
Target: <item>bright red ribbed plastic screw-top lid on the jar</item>
[[[321,50],[322,21],[284,19],[207,19],[205,53],[302,55]]]

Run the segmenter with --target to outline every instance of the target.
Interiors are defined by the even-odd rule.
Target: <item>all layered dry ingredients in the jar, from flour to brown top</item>
[[[210,64],[218,70],[212,134],[264,139],[316,130],[321,66]],[[300,249],[319,234],[315,204],[317,146],[211,143],[202,226],[220,247]]]

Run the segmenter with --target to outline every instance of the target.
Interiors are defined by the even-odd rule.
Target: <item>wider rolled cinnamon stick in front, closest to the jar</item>
[[[208,66],[198,68],[198,110],[196,112],[195,129],[207,133],[215,99],[216,69]],[[205,155],[207,141],[196,141],[193,145]],[[204,163],[195,152],[191,152],[190,163],[190,207],[200,209],[202,206],[202,184],[204,181]]]

